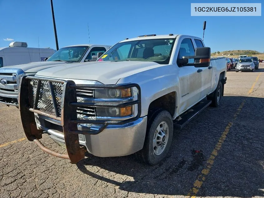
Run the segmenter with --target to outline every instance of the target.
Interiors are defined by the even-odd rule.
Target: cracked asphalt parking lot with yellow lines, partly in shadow
[[[169,156],[156,166],[134,155],[87,154],[77,165],[48,155],[25,139],[19,110],[1,104],[0,197],[263,197],[264,63],[259,68],[227,71],[221,106],[174,130]],[[41,141],[64,151],[47,135]]]

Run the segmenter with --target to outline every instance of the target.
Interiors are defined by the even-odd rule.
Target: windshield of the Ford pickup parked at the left
[[[62,60],[69,63],[80,62],[89,46],[65,47],[52,54],[46,61]]]

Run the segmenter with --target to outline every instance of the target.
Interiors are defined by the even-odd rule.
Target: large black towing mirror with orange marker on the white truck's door
[[[194,56],[183,56],[182,59],[194,58],[194,63],[182,63],[182,66],[209,67],[211,59],[211,48],[195,48]]]

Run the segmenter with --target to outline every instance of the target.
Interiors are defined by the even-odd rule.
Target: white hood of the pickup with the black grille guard
[[[96,80],[103,84],[116,84],[122,77],[163,65],[148,61],[97,61],[63,64],[37,72],[37,76],[58,79]]]

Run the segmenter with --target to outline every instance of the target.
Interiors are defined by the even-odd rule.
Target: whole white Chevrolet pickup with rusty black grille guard
[[[77,163],[84,153],[136,156],[154,165],[181,129],[217,107],[226,58],[211,58],[201,38],[145,35],[123,40],[97,62],[62,64],[23,76],[19,108],[25,135],[45,152]],[[191,110],[189,110],[191,109]],[[47,133],[67,154],[39,141]]]

